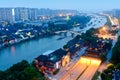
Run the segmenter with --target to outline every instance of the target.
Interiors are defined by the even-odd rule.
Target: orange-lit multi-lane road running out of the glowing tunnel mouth
[[[78,76],[80,76],[79,80],[91,80],[100,63],[99,59],[81,57],[59,80],[76,80]]]

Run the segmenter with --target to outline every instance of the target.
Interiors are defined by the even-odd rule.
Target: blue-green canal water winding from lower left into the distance
[[[87,26],[83,30],[81,30],[79,27],[73,28],[72,30],[85,32],[91,27],[97,28],[106,23],[106,18],[101,17],[99,19],[94,19],[97,19],[98,21],[101,20],[101,22],[96,23],[95,21],[95,24],[93,24],[93,26]],[[94,19],[92,19],[91,21],[94,22]],[[65,45],[70,39],[72,39],[72,37],[69,36],[58,40],[58,38],[60,37],[61,36],[59,35],[55,35],[42,39],[30,40],[0,50],[0,70],[6,70],[10,66],[17,62],[20,62],[21,60],[27,60],[31,62],[40,54],[43,54],[48,50],[59,49],[63,47],[63,45]]]

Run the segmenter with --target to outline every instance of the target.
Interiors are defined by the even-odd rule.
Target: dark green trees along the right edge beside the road
[[[112,49],[110,62],[111,64],[109,64],[107,69],[105,69],[101,74],[102,80],[112,80],[114,71],[120,70],[120,36]]]

